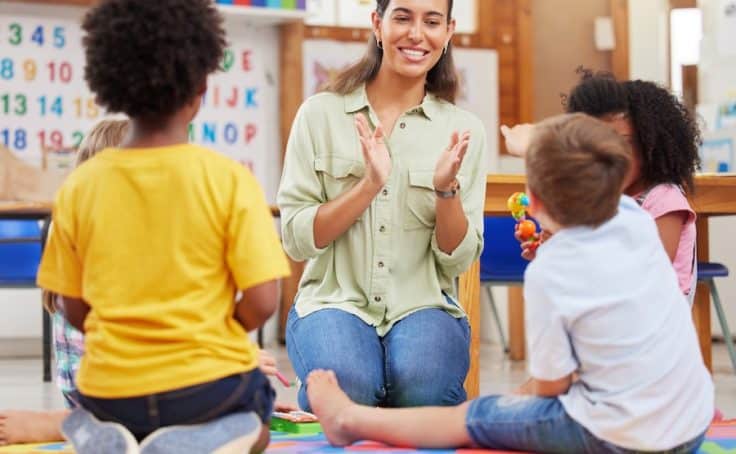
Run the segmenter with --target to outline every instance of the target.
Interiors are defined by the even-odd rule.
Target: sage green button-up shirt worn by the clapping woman
[[[455,278],[483,248],[486,136],[481,121],[434,95],[425,96],[420,106],[399,117],[385,140],[392,170],[384,188],[346,232],[319,249],[314,243],[317,209],[365,173],[354,123],[358,112],[376,124],[365,87],[347,96],[320,93],[304,102],[291,129],[277,203],[286,252],[294,260],[308,260],[296,296],[297,314],[341,309],[375,326],[379,336],[424,308],[464,317]],[[452,132],[465,130],[471,138],[458,181],[468,230],[448,255],[434,234],[432,178]]]

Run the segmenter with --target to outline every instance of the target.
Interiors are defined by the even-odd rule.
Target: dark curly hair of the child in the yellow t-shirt
[[[166,117],[191,101],[226,45],[211,0],[103,0],[82,28],[97,102],[131,118]]]

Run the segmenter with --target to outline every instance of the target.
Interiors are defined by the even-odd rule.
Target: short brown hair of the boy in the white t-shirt
[[[600,120],[552,117],[535,127],[527,151],[529,191],[560,225],[598,226],[616,214],[631,153]]]

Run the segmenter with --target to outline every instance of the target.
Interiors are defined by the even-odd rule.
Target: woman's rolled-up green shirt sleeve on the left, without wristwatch
[[[314,243],[314,218],[320,205],[326,202],[322,182],[314,170],[314,156],[307,105],[302,105],[291,127],[276,196],[284,250],[297,261],[325,251]]]

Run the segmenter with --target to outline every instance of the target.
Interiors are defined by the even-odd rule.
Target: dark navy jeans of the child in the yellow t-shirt
[[[260,369],[148,396],[100,399],[77,393],[79,405],[100,421],[124,425],[140,441],[161,427],[201,424],[255,412],[268,424],[276,393]]]

